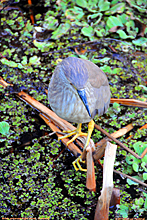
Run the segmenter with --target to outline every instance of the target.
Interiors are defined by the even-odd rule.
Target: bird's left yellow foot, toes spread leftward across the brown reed
[[[74,131],[64,131],[64,132],[66,132],[66,133],[68,133],[68,134],[66,134],[66,135],[64,135],[64,136],[62,136],[62,137],[59,137],[58,140],[61,140],[61,139],[63,139],[63,138],[68,138],[68,137],[74,135],[74,137],[73,137],[70,141],[68,141],[68,142],[66,143],[66,145],[68,146],[71,142],[73,142],[73,141],[74,141],[76,138],[78,138],[79,136],[87,136],[87,133],[83,133],[83,132],[81,131],[81,126],[82,126],[82,123],[79,123],[76,130],[74,130]]]

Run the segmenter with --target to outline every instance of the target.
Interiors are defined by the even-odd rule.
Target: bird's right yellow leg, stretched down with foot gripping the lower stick
[[[86,138],[86,143],[85,143],[85,146],[84,146],[84,150],[86,150],[86,147],[88,146],[89,144],[89,141],[90,141],[90,137],[91,137],[91,134],[93,132],[93,129],[94,129],[94,121],[91,120],[89,123],[88,123],[88,134],[87,134],[87,138]],[[80,162],[82,163],[85,163],[85,161],[82,160],[81,158],[81,155],[73,162],[73,166],[75,168],[75,170],[81,170],[81,171],[87,171],[87,169],[83,169],[80,165]]]

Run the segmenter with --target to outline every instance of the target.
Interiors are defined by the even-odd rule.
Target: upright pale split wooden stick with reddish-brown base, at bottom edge
[[[113,167],[117,146],[107,142],[103,167],[103,188],[98,198],[94,220],[108,220],[109,204],[113,191]]]

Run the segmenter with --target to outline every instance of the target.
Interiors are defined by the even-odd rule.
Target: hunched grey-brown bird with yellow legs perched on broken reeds
[[[76,130],[60,139],[74,135],[69,144],[77,137],[86,135],[86,148],[94,128],[92,119],[96,114],[104,114],[109,106],[110,87],[105,73],[95,64],[68,57],[55,68],[49,84],[48,99],[52,110],[59,117],[78,123]],[[88,134],[81,132],[82,123],[87,122]],[[76,169],[75,163],[74,167]]]

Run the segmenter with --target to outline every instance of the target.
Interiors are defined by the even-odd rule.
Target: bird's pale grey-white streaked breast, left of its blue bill
[[[49,102],[53,111],[61,118],[75,123],[86,123],[91,121],[85,105],[79,97],[77,90],[69,85],[58,85],[60,91],[56,88],[49,91]],[[54,97],[54,98],[50,98]]]

